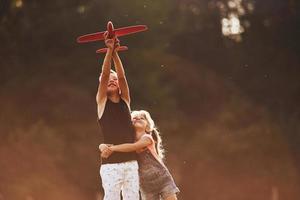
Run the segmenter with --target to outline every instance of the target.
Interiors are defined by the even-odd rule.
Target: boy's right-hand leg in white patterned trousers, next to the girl
[[[122,188],[123,200],[139,200],[139,172],[137,161],[124,163],[125,179]]]

